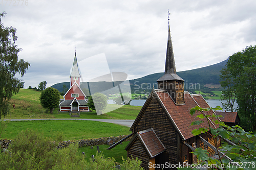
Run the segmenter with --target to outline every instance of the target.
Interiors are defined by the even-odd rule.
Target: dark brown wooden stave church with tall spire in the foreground
[[[189,164],[197,162],[191,152],[196,148],[207,149],[211,155],[215,154],[208,145],[214,145],[214,139],[208,134],[193,136],[191,131],[208,126],[206,122],[201,125],[190,126],[191,122],[200,120],[199,114],[212,114],[197,112],[189,114],[191,108],[199,106],[210,107],[201,94],[184,92],[184,80],[176,74],[172,39],[168,25],[168,41],[165,61],[165,73],[157,80],[158,88],[153,89],[139,112],[130,131],[133,138],[126,146],[127,157],[138,157],[144,169],[155,169],[149,164]],[[214,113],[215,114],[215,113]],[[220,121],[220,119],[218,118]],[[211,128],[218,128],[211,120]],[[154,132],[154,133],[153,133]],[[143,134],[148,133],[148,137]],[[205,140],[203,140],[203,139]],[[217,145],[221,140],[217,137]],[[156,142],[157,141],[157,142]],[[158,143],[158,144],[156,144]],[[154,154],[153,154],[154,153]],[[177,169],[177,168],[166,168]]]

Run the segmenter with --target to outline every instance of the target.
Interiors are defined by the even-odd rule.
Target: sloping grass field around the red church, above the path
[[[58,114],[58,108],[51,114],[46,113],[46,109],[42,108],[40,105],[39,96],[40,91],[20,89],[20,91],[17,94],[14,94],[10,100],[10,113],[6,118],[71,118],[68,112]],[[13,104],[15,104],[15,109],[12,107]],[[111,108],[119,106],[111,105]],[[141,108],[141,106],[122,106],[102,115],[97,115],[95,111],[82,112],[80,118],[135,119]]]

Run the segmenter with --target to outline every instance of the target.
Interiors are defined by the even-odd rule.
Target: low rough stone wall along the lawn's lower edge
[[[100,138],[94,138],[94,139],[79,139],[79,140],[65,140],[59,142],[59,145],[57,146],[57,149],[66,148],[69,144],[78,142],[79,147],[86,147],[86,146],[93,146],[93,145],[101,145],[106,144],[106,141],[108,139],[112,139],[114,142],[118,142],[119,140],[125,138],[127,135],[120,135],[117,137],[100,137]],[[126,139],[125,141],[130,141],[132,137]],[[9,144],[11,143],[11,140],[8,139],[1,139],[0,140],[0,149],[7,149],[9,147]]]

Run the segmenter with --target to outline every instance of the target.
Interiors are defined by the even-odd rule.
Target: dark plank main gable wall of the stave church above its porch
[[[161,105],[152,98],[135,127],[135,132],[153,128],[168,153],[170,163],[178,163],[177,132]]]

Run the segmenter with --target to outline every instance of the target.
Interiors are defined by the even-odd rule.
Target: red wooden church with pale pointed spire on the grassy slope
[[[64,99],[60,100],[60,112],[89,112],[88,102],[86,95],[80,88],[80,71],[78,68],[76,53],[73,62],[72,71],[70,74],[70,88],[63,96]]]

